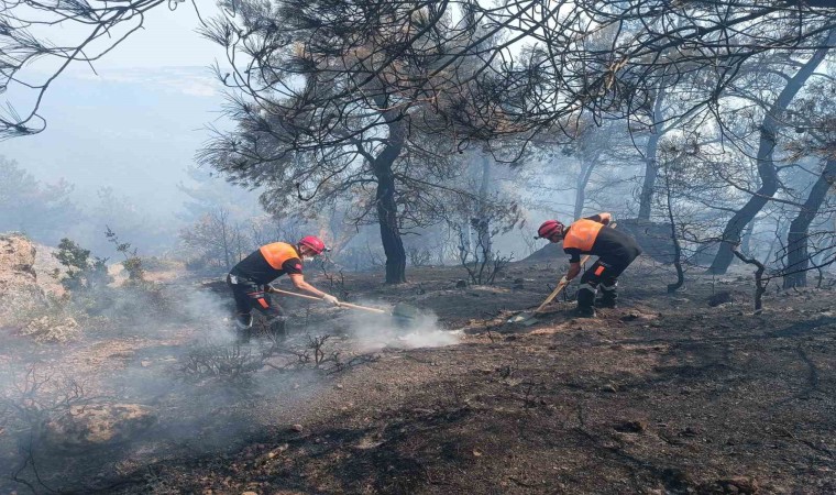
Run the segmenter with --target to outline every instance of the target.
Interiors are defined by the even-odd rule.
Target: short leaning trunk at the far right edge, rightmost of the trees
[[[783,287],[806,287],[807,268],[810,267],[810,253],[807,232],[818,209],[827,197],[831,183],[836,179],[836,160],[828,160],[822,170],[822,175],[810,189],[804,207],[799,216],[790,223],[790,232],[787,235],[787,268],[784,268]]]

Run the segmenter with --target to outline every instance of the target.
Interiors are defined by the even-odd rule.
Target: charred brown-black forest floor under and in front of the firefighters
[[[43,471],[52,490],[85,493],[836,493],[834,290],[771,288],[755,316],[743,267],[691,275],[669,296],[670,274],[639,265],[622,306],[597,319],[561,301],[534,326],[504,323],[548,294],[558,266],[519,263],[496,287],[466,288],[450,267],[413,270],[396,288],[346,274],[350,297],[431,309],[461,342],[389,343],[328,372],[267,367],[257,380],[272,388],[218,398],[204,387],[211,415],[199,425],[180,411],[153,440],[87,454],[89,473],[54,453]],[[729,302],[710,306],[725,292]],[[292,311],[340,326],[334,310],[301,308]],[[131,339],[102,339],[77,362],[151,362],[141,373],[182,345]],[[173,404],[154,403],[177,416]],[[234,435],[201,441],[219,431]],[[70,464],[75,475],[56,474]]]

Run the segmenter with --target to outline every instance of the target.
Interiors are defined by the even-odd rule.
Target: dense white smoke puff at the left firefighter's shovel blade
[[[362,301],[362,306],[384,308],[374,301]],[[361,310],[351,311],[349,331],[356,340],[358,350],[376,351],[384,348],[415,349],[454,345],[461,332],[444,330],[439,326],[438,316],[432,311],[419,311],[409,318],[378,315]]]

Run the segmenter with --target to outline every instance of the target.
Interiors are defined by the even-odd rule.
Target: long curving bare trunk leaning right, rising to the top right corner
[[[827,36],[825,45],[832,44],[836,40],[836,30]],[[810,61],[799,69],[798,73],[787,82],[787,86],[776,99],[776,102],[769,108],[763,123],[760,128],[760,145],[758,146],[758,176],[761,186],[749,201],[735,213],[726,224],[723,231],[723,239],[714,257],[708,273],[724,274],[732,264],[735,254],[733,248],[740,242],[740,233],[749,224],[755,216],[763,208],[767,201],[778,191],[778,170],[772,162],[772,153],[776,148],[778,130],[781,127],[781,117],[792,102],[795,95],[804,87],[804,82],[815,72],[818,64],[822,63],[827,54],[827,47],[816,50]]]

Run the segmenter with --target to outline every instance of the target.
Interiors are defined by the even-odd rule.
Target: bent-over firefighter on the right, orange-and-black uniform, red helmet
[[[569,227],[557,220],[548,220],[537,230],[540,239],[548,239],[554,243],[563,242],[563,251],[571,256],[566,280],[581,273],[581,254],[598,256],[598,261],[581,277],[575,311],[580,317],[595,317],[595,295],[598,286],[602,292],[598,307],[616,307],[618,275],[641,254],[641,248],[636,240],[608,227],[610,221],[609,213],[598,213],[578,220]]]

